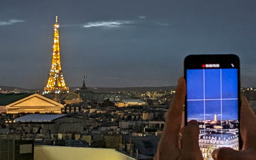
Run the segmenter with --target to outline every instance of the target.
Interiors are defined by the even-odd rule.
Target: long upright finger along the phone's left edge
[[[182,122],[182,112],[184,111],[184,102],[186,96],[186,81],[181,77],[178,81],[176,88],[175,100],[172,105],[172,110],[168,111],[166,124],[164,127],[164,134],[171,134],[175,141],[177,141],[177,135],[180,131],[180,125]]]

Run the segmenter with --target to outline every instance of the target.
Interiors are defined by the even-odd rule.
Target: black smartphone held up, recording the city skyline
[[[199,123],[199,146],[204,160],[215,148],[239,150],[240,62],[236,55],[189,55],[184,60],[187,93],[185,125]]]

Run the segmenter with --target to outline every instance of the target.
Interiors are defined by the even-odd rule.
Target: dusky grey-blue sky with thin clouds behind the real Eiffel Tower
[[[255,0],[6,0],[0,85],[43,88],[59,16],[67,86],[176,85],[189,54],[234,53],[256,86]]]

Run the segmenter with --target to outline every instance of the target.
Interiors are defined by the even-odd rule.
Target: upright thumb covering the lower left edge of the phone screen
[[[182,151],[186,151],[186,153],[195,152],[195,150],[199,150],[199,125],[196,120],[191,120],[188,122],[188,125],[184,128],[183,132],[183,145]]]

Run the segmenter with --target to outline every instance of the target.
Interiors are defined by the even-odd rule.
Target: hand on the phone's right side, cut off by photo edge
[[[240,131],[243,148],[240,151],[229,147],[215,149],[212,152],[214,160],[256,160],[256,115],[244,96],[241,100]]]

